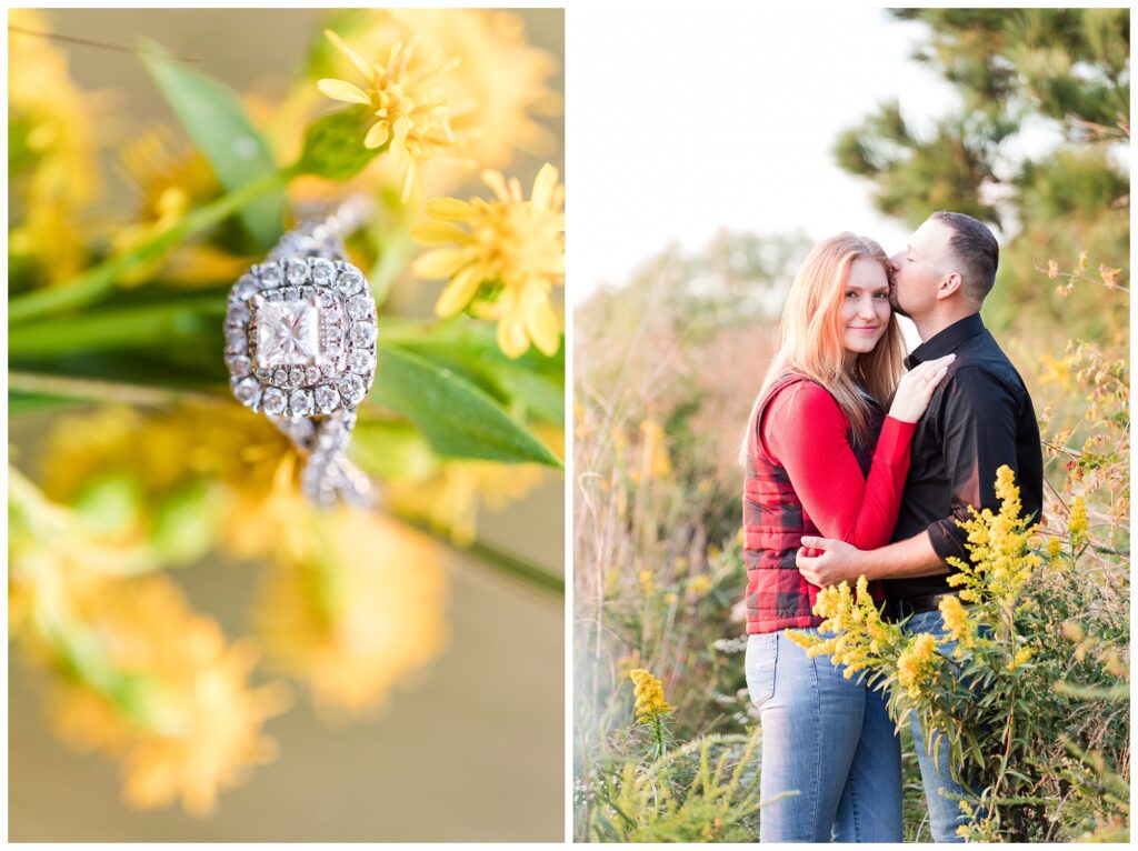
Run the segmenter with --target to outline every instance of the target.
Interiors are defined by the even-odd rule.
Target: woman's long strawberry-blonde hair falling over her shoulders
[[[740,463],[747,462],[748,438],[756,428],[759,403],[786,373],[805,375],[826,388],[849,418],[855,440],[860,445],[869,440],[872,412],[858,385],[883,408],[888,410],[892,403],[905,356],[896,312],[890,314],[885,333],[873,350],[859,354],[852,370],[846,366],[841,304],[857,259],[880,263],[892,287],[893,268],[884,249],[874,240],[849,231],[816,245],[794,275],[778,324],[778,349],[751,407]]]

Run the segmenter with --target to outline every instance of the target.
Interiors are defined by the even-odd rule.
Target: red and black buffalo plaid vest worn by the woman
[[[747,564],[747,631],[774,633],[777,629],[816,627],[823,621],[814,614],[818,587],[806,581],[798,570],[794,556],[803,535],[825,537],[810,520],[794,493],[785,468],[762,448],[759,424],[775,393],[810,381],[803,375],[787,374],[780,378],[756,408],[748,437],[747,479],[743,485],[743,560]],[[853,430],[847,421],[847,437],[861,473],[869,476],[873,452],[885,414],[872,404],[872,435],[868,446],[856,446]],[[809,429],[809,423],[802,423]],[[871,589],[879,602],[884,597],[880,583]]]

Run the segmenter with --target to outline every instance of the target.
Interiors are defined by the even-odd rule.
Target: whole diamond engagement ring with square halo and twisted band
[[[323,506],[372,502],[371,482],[345,454],[376,377],[376,300],[344,251],[369,206],[352,199],[302,214],[233,284],[225,312],[233,395],[306,456],[302,489]]]

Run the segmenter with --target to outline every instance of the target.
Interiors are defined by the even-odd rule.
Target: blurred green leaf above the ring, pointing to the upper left
[[[229,86],[180,63],[151,41],[142,42],[139,58],[222,187],[233,191],[277,172],[269,143]],[[280,238],[284,207],[284,192],[277,190],[249,203],[238,215],[253,238],[267,249]]]

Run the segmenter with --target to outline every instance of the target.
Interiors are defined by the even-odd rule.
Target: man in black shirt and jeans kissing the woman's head
[[[890,259],[897,273],[893,306],[913,320],[922,340],[907,366],[949,353],[956,360],[913,436],[894,543],[861,552],[842,542],[803,537],[798,565],[818,586],[843,579],[852,585],[861,575],[882,579],[887,611],[896,619],[912,615],[907,631],[942,636],[938,606],[945,595],[956,593],[947,581],[955,572],[947,559],[968,560],[967,535],[957,521],[971,519],[970,505],[998,511],[995,484],[1001,464],[1015,471],[1024,512],[1039,515],[1039,427],[1023,380],[980,319],[999,263],[991,231],[960,213],[933,213]],[[807,548],[824,552],[808,556]],[[950,645],[941,648],[950,651]],[[933,838],[962,841],[956,828],[966,820],[953,795],[964,790],[949,774],[947,742],[934,765],[915,714],[913,738]]]

